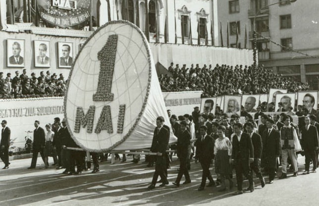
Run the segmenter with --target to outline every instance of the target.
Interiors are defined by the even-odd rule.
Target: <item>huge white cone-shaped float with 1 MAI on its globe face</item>
[[[145,149],[158,116],[170,127],[169,143],[177,141],[149,43],[134,24],[111,21],[99,28],[76,56],[69,80],[64,117],[78,150],[153,154]]]

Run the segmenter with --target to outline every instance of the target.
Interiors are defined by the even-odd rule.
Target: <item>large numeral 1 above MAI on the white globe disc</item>
[[[93,101],[106,102],[113,101],[114,94],[111,93],[112,78],[115,64],[116,34],[109,35],[106,44],[101,51],[98,52],[98,59],[100,60],[100,73],[97,92],[93,95]]]

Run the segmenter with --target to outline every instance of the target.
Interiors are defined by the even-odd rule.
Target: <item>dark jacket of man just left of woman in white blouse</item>
[[[196,156],[200,162],[211,161],[214,158],[214,139],[207,135],[204,140],[200,136],[196,141]]]

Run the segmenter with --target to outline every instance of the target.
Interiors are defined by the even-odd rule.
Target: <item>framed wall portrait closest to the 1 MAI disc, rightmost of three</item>
[[[58,42],[58,67],[71,68],[73,64],[73,43]]]

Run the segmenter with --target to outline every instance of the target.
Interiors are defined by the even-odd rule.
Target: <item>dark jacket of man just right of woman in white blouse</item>
[[[238,142],[237,135],[233,136],[233,151],[231,154],[232,159],[238,159],[238,154],[240,153],[241,159],[254,158],[254,148],[252,139],[249,134],[242,133],[240,142]]]

